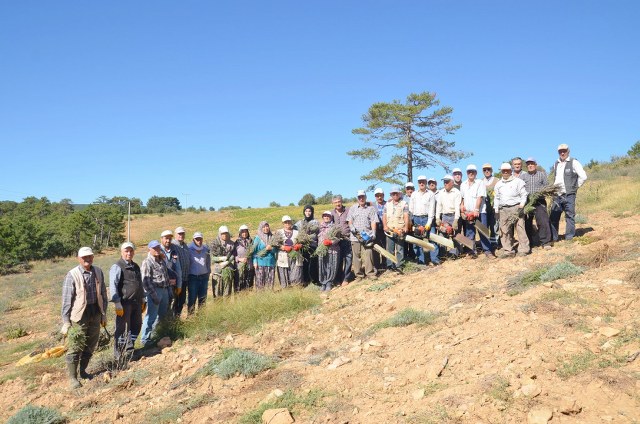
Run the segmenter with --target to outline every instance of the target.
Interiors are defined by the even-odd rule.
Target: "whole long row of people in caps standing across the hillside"
[[[455,168],[442,178],[440,189],[435,179],[421,175],[418,190],[408,182],[404,192],[400,187],[392,188],[388,200],[381,188],[374,192],[374,203],[359,190],[357,203],[350,207],[337,195],[332,199],[333,209],[324,211],[320,220],[315,219],[313,206],[307,205],[301,220],[294,223],[285,215],[282,228],[276,231],[267,221],[260,222],[253,238],[247,225],[240,226],[235,240],[227,226],[219,227],[218,236],[208,245],[201,232],[195,232],[187,243],[183,227],[165,230],[160,240],[148,243],[141,266],[133,261],[134,245],[126,242],[121,246],[121,258],[109,270],[110,297],[102,270],[93,266],[93,251],[82,247],[79,265],[67,273],[62,292],[61,332],[66,335],[76,325],[85,336],[83,346],[67,352],[70,385],[80,387],[78,376],[91,377],[86,369],[100,326],[106,325],[109,301],[116,311],[114,355],[116,359],[130,358],[138,339],[142,346],[149,343],[158,322],[179,318],[185,303],[188,314],[195,312],[196,303],[201,308],[209,281],[215,297],[250,288],[274,289],[276,275],[281,288],[313,282],[326,292],[355,279],[376,279],[385,269],[397,270],[407,257],[433,266],[465,251],[470,258],[482,251],[493,259],[500,245],[503,258],[524,256],[532,246],[549,249],[558,241],[562,213],[564,237],[571,240],[575,235],[576,193],[587,176],[581,164],[569,156],[568,145],[559,145],[558,154],[551,180],[533,157],[502,163],[500,177],[494,176],[493,167],[486,163],[481,168],[483,176],[478,178],[477,167],[470,164],[464,181],[462,170]],[[550,186],[554,190],[549,213],[546,197],[536,193]],[[527,213],[525,205],[530,207]],[[478,222],[490,234],[478,234],[476,246]],[[434,242],[427,254],[423,244],[406,242],[407,235],[425,241],[433,241],[435,236],[453,241],[456,234],[463,234],[473,245]],[[385,253],[381,248],[386,254],[380,254]]]

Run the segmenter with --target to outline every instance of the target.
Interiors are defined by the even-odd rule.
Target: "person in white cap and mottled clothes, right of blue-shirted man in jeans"
[[[235,291],[235,246],[226,225],[218,229],[218,237],[211,242],[213,262],[212,287],[215,297],[229,296]]]

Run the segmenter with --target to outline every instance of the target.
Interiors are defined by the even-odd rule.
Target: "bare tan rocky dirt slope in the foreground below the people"
[[[355,283],[331,292],[318,310],[255,335],[179,341],[109,382],[99,376],[79,397],[66,389],[62,371],[35,386],[6,382],[0,391],[13,412],[0,416],[32,403],[77,422],[138,423],[150,411],[183,405],[181,422],[238,422],[274,389],[292,389],[323,394],[321,406],[296,408],[296,422],[523,423],[549,416],[551,423],[638,422],[640,290],[628,274],[640,264],[640,231],[634,218],[610,226],[612,219],[592,215],[578,241],[525,258],[461,259]],[[605,244],[609,260],[595,267]],[[507,293],[510,277],[567,257],[590,258],[591,266],[581,275]],[[405,308],[437,318],[430,325],[371,331]],[[280,362],[255,378],[177,384],[222,346]],[[331,367],[336,358],[346,363]],[[187,407],[195,398],[205,401]]]

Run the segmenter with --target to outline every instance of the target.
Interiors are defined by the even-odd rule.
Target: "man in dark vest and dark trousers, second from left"
[[[133,261],[135,247],[131,242],[120,246],[120,259],[109,270],[109,292],[116,308],[113,352],[117,360],[127,361],[142,328],[142,272]]]

